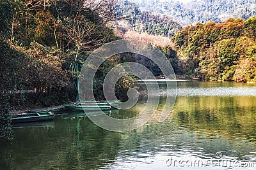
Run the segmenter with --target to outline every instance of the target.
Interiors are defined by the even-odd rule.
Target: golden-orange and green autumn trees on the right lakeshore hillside
[[[206,80],[256,81],[256,17],[188,26],[172,39],[181,74]]]

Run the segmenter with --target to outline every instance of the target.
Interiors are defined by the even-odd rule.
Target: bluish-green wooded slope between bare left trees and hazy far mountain
[[[120,20],[114,25],[123,33],[134,30],[139,33],[147,32],[151,35],[171,37],[181,28],[181,25],[174,22],[172,18],[154,15],[150,11],[141,11],[137,4],[129,1],[119,1],[116,13]]]

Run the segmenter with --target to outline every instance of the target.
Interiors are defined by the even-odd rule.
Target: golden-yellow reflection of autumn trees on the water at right
[[[256,141],[255,106],[253,97],[177,97],[173,115],[191,130]]]

